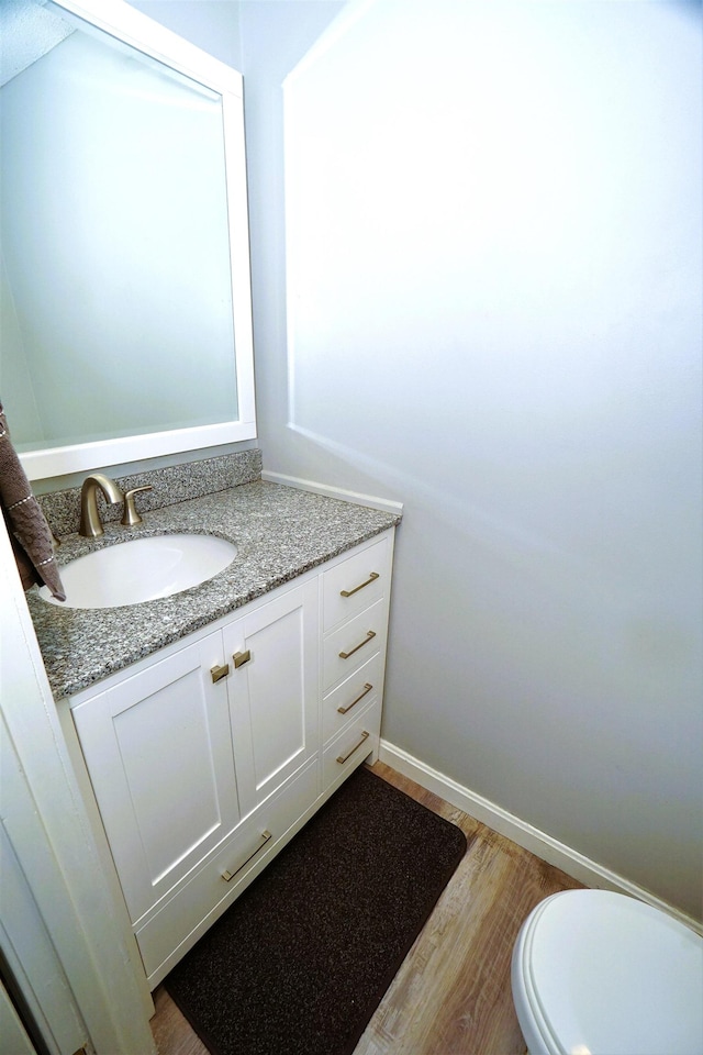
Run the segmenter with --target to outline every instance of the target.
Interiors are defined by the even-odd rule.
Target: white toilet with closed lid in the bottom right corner
[[[703,937],[626,895],[542,901],[512,988],[529,1055],[703,1055]]]

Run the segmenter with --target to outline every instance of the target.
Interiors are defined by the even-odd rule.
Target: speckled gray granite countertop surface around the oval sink
[[[59,565],[96,548],[146,535],[197,532],[238,547],[224,571],[199,586],[142,604],[69,609],[37,588],[27,602],[56,699],[143,659],[235,611],[310,568],[400,522],[400,515],[257,480],[155,509],[136,528],[105,524],[98,540],[68,535]]]

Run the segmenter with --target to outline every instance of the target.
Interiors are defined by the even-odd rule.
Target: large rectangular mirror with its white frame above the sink
[[[254,438],[241,75],[122,0],[0,10],[0,396],[27,476]]]

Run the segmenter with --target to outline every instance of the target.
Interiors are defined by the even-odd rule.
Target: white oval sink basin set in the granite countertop
[[[214,535],[152,535],[96,549],[60,568],[66,600],[43,586],[40,596],[64,608],[118,608],[170,597],[205,582],[232,564],[237,547]]]

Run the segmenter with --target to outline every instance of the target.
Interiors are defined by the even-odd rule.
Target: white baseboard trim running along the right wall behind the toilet
[[[490,799],[484,799],[483,796],[462,787],[450,777],[437,773],[436,769],[409,755],[401,747],[395,747],[387,740],[380,742],[379,758],[387,766],[426,788],[427,791],[438,795],[446,802],[456,806],[457,809],[468,813],[477,821],[481,821],[494,832],[522,846],[523,849],[527,849],[542,860],[546,860],[547,864],[566,871],[568,876],[578,879],[584,886],[627,893],[669,913],[698,934],[703,933],[703,924],[680,909],[657,898],[649,890],[645,890],[644,887],[631,882],[624,876],[620,876],[610,868],[599,865],[598,862],[591,860],[590,857],[584,857],[583,854],[553,839],[551,835],[533,828],[532,824],[523,821],[520,817],[515,817],[514,813],[509,813],[507,810],[496,806],[495,802],[491,802]]]

